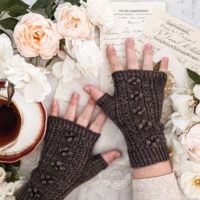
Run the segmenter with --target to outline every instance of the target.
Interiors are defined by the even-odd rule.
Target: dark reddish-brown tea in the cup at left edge
[[[0,147],[17,139],[21,128],[21,116],[14,103],[10,108],[3,107],[7,100],[0,99]]]

